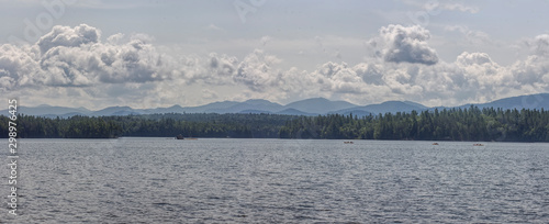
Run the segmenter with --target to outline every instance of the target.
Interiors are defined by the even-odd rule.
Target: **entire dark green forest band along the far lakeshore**
[[[0,135],[8,136],[0,115]],[[549,142],[549,112],[469,109],[386,113],[369,116],[329,114],[152,114],[48,119],[20,115],[19,137],[107,138],[120,136],[422,139]]]

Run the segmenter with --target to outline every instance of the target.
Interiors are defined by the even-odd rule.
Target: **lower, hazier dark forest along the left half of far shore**
[[[19,137],[109,138],[120,136],[277,138],[296,116],[269,114],[152,114],[48,119],[20,115]],[[0,135],[8,136],[8,117],[0,116]]]

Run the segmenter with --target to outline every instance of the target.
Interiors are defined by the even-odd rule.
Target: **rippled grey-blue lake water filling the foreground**
[[[343,142],[20,139],[0,223],[549,223],[549,144]]]

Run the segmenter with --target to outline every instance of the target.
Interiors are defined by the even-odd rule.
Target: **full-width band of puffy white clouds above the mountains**
[[[36,101],[58,99],[52,104],[153,108],[313,97],[359,104],[411,100],[455,105],[549,91],[548,34],[524,42],[530,55],[509,66],[480,52],[444,61],[429,38],[424,27],[391,24],[367,41],[373,54],[363,55],[373,56],[362,63],[325,61],[302,70],[280,69],[283,58],[264,49],[243,58],[221,53],[166,55],[148,35],[102,38],[99,29],[86,24],[55,26],[33,45],[0,46],[0,92]],[[262,45],[269,40],[262,37]]]

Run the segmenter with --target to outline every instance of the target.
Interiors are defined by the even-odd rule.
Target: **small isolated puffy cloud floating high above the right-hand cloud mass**
[[[381,47],[385,61],[434,65],[438,63],[435,49],[427,45],[429,31],[422,26],[388,25],[380,29],[372,45]]]

